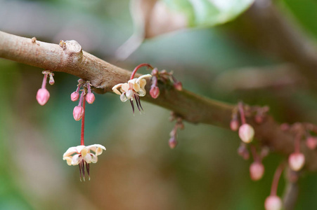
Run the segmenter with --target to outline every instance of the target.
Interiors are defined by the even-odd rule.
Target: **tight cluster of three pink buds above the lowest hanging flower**
[[[81,90],[82,90],[82,94],[80,94],[80,98],[79,98],[79,92]],[[93,94],[93,92],[91,92],[90,82],[79,79],[77,90],[75,92],[72,92],[72,94],[70,94],[70,99],[72,100],[72,102],[76,102],[79,99],[78,106],[75,106],[72,112],[74,119],[76,121],[79,121],[82,119],[82,116],[84,116],[84,107],[82,106],[83,102],[86,100],[88,104],[93,104],[93,102],[95,101],[95,95]]]

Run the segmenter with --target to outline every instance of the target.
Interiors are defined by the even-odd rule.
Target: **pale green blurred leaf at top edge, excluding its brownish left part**
[[[161,0],[188,18],[188,27],[209,27],[233,20],[254,0]]]

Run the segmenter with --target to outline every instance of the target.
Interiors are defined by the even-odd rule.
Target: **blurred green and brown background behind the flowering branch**
[[[273,3],[308,41],[316,41],[316,1]],[[75,39],[125,69],[148,62],[172,70],[197,94],[269,105],[280,123],[317,123],[316,92],[292,62],[254,44],[256,25],[243,25],[248,13],[225,25],[150,38],[122,62],[115,51],[134,31],[128,0],[0,0],[0,30],[51,43]],[[55,73],[51,98],[39,106],[42,70],[0,59],[0,209],[264,209],[283,157],[269,155],[264,178],[251,181],[252,160],[237,155],[237,133],[185,123],[171,150],[169,111],[143,102],[145,114],[134,116],[110,93],[86,106],[86,144],[107,151],[91,165],[91,181],[79,182],[78,167],[62,160],[67,148],[80,143],[80,123],[72,117],[77,102],[70,101],[78,78]],[[316,174],[305,173],[299,184],[296,209],[315,209]],[[278,195],[284,186],[282,177]]]

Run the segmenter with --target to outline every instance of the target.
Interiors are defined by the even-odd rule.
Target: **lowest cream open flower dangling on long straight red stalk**
[[[89,146],[73,146],[68,148],[67,151],[63,155],[63,160],[67,161],[67,165],[79,165],[79,176],[80,181],[82,178],[85,181],[85,165],[86,165],[86,172],[89,176],[89,163],[96,163],[98,161],[98,155],[101,155],[105,150],[105,147],[101,144],[93,144]],[[93,153],[91,153],[93,151]]]

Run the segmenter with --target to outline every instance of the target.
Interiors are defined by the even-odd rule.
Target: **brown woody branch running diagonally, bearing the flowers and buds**
[[[88,52],[82,51],[77,41],[65,41],[60,45],[34,41],[0,31],[0,57],[16,62],[37,66],[51,71],[61,71],[91,81],[98,93],[111,91],[117,83],[129,80],[130,71],[99,59]],[[146,85],[150,90],[150,83]],[[160,97],[153,99],[150,94],[142,97],[146,102],[172,110],[190,123],[205,123],[229,128],[231,114],[235,106],[224,102],[200,97],[187,90],[178,91],[174,88],[161,88]],[[256,124],[253,118],[247,122],[254,126],[255,134],[263,144],[273,151],[289,155],[294,151],[293,136],[280,130],[280,126],[271,116],[264,123]],[[306,156],[306,168],[317,170],[317,153],[302,145]]]

